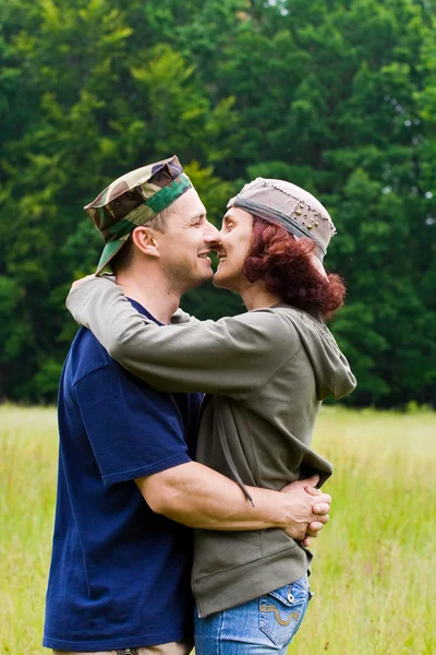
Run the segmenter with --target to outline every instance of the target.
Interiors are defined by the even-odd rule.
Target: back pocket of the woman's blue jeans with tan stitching
[[[262,596],[259,629],[276,646],[291,643],[303,620],[308,597],[307,577]]]

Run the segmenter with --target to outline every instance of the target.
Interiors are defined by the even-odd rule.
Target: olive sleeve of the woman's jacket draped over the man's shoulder
[[[166,392],[249,397],[299,347],[293,343],[290,352],[290,333],[294,342],[295,334],[271,310],[159,326],[137,312],[119,286],[98,278],[73,289],[66,307],[113,359]]]

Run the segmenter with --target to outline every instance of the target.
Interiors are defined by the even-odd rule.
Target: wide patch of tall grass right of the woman
[[[431,413],[324,409],[314,446],[335,463],[334,510],[290,652],[435,655],[435,438]]]

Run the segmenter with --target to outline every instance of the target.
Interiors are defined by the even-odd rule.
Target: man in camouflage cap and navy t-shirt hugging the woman
[[[85,209],[106,241],[97,274],[110,263],[132,305],[156,323],[168,323],[181,295],[211,277],[218,233],[177,157],[119,178]],[[59,394],[45,646],[189,653],[187,527],[280,527],[302,540],[328,520],[330,498],[304,489],[316,478],[287,493],[250,488],[251,504],[237,484],[193,462],[199,402],[152,389],[90,332],[77,333]]]

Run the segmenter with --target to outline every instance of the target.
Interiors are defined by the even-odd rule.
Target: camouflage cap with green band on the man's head
[[[87,204],[84,210],[106,243],[96,275],[102,273],[135,227],[152,221],[189,189],[191,180],[174,155],[126,172]]]

